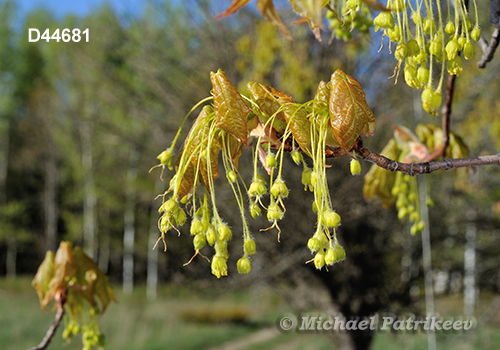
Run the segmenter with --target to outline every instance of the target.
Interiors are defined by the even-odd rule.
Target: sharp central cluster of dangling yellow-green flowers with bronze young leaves
[[[163,194],[159,229],[165,249],[165,233],[186,222],[186,209],[192,215],[194,256],[202,255],[207,244],[212,246],[212,273],[217,277],[227,275],[227,243],[233,233],[219,216],[214,182],[219,176],[221,153],[242,222],[243,255],[237,269],[242,274],[250,272],[256,244],[246,221],[245,204],[250,203],[253,218],[266,212],[270,222],[267,229],[276,228],[279,240],[279,222],[285,216],[285,199],[289,195],[282,169],[284,155],[289,152],[293,161],[303,167],[305,189],[314,193],[312,209],[317,213],[317,225],[307,243],[315,254],[311,261],[320,269],[343,260],[345,251],[336,235],[340,215],[333,209],[328,190],[325,150],[340,147],[349,153],[360,134],[373,134],[375,119],[359,83],[337,70],[328,83],[319,84],[314,100],[299,104],[291,96],[256,82],[247,85],[249,97],[243,96],[221,70],[212,72],[210,79],[213,96],[191,112],[209,100],[212,104],[205,105],[193,123],[175,162],[175,175]],[[181,129],[182,125],[172,146],[158,156],[160,166],[174,168],[173,150]],[[247,187],[238,169],[243,148],[250,147],[253,177]],[[312,167],[304,155],[311,159]],[[358,174],[360,164],[354,154],[352,157],[351,170]]]

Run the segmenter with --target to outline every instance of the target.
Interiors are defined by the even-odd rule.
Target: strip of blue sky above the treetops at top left
[[[17,0],[19,11],[22,15],[38,8],[44,7],[52,12],[56,17],[63,17],[72,13],[84,16],[102,3],[111,3],[112,7],[119,14],[140,13],[147,0]]]

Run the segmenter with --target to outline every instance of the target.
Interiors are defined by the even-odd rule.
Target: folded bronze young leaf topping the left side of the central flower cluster
[[[214,96],[215,126],[246,146],[250,108],[221,69],[217,73],[210,72],[210,80]]]

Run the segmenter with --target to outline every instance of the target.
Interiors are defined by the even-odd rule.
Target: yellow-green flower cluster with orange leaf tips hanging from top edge
[[[232,14],[248,2],[234,0],[218,17]],[[433,115],[438,114],[442,103],[445,71],[460,75],[463,71],[462,58],[474,58],[473,41],[477,42],[481,37],[476,0],[472,0],[474,20],[468,3],[467,0],[457,0],[450,4],[448,0],[445,11],[440,1],[433,0],[387,0],[385,6],[376,0],[290,0],[294,11],[302,16],[302,21],[309,23],[319,41],[320,29],[326,29],[322,21],[324,9],[332,36],[339,39],[350,40],[354,29],[368,34],[372,25],[375,25],[375,31],[382,30],[383,37],[389,38],[389,50],[398,61],[395,76],[403,68],[406,83],[423,90],[422,106]],[[272,1],[257,0],[257,6],[285,36],[290,37]],[[370,9],[380,11],[373,20]],[[391,43],[395,43],[396,47],[392,48]],[[436,82],[434,77],[437,74],[439,79]]]

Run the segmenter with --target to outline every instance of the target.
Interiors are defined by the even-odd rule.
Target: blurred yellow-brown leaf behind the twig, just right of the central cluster
[[[380,154],[390,159],[398,159],[401,150],[396,140],[392,138]],[[376,164],[372,165],[370,171],[365,175],[365,184],[363,186],[365,199],[368,200],[378,196],[382,200],[384,208],[389,208],[396,201],[396,197],[392,193],[395,181],[395,172],[385,170]]]

